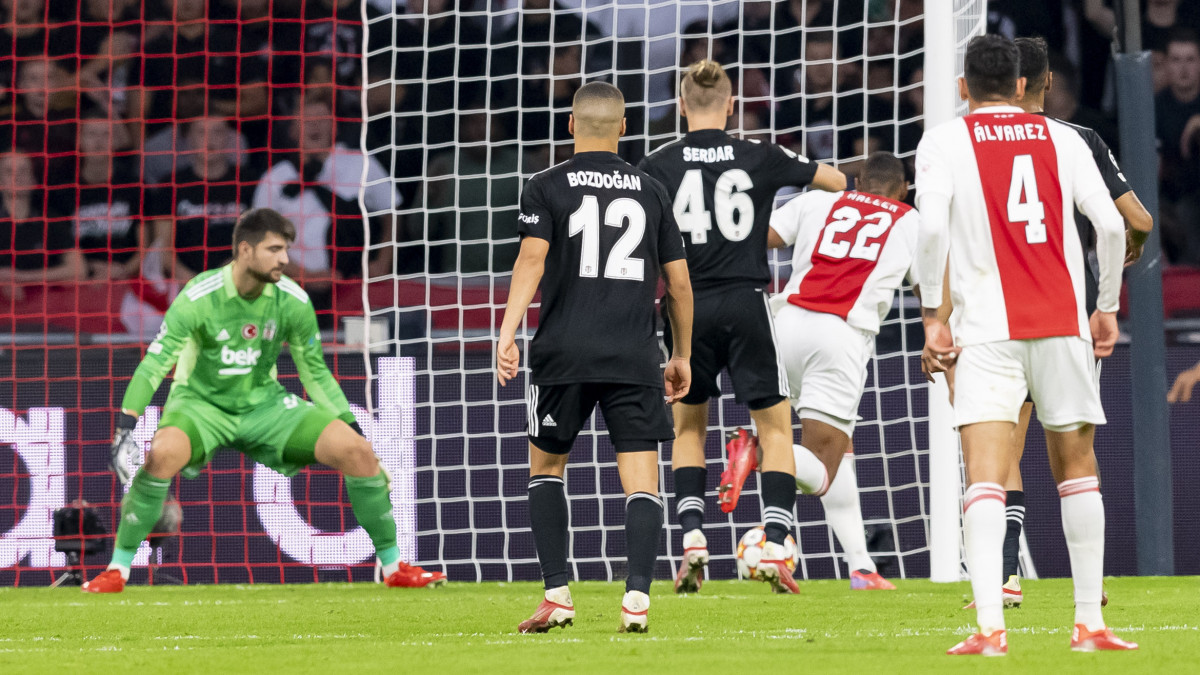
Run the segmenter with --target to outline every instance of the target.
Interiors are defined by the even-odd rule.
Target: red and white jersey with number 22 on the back
[[[770,216],[792,252],[781,295],[877,334],[892,297],[911,274],[920,229],[917,210],[865,192],[805,192]]]

